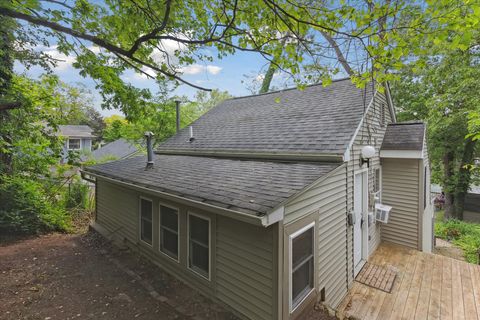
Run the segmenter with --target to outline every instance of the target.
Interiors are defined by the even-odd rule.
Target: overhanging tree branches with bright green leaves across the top
[[[23,22],[17,38],[53,37],[59,51],[76,56],[80,73],[98,82],[104,107],[128,115],[155,97],[123,81],[127,69],[205,89],[185,80],[182,66],[236,51],[275,58],[299,84],[328,84],[339,72],[359,86],[392,80],[390,71],[435,46],[478,44],[480,1],[3,0],[0,15]]]

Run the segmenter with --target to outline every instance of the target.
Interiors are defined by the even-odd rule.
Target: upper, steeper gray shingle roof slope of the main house
[[[159,150],[343,154],[372,97],[350,79],[226,100]],[[173,152],[174,153],[174,152]]]

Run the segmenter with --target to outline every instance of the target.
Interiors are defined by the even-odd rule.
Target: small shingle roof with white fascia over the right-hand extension
[[[381,150],[422,150],[425,124],[394,123],[387,126]]]

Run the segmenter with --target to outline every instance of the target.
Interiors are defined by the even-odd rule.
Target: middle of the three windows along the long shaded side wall
[[[160,205],[160,251],[178,261],[178,210]]]

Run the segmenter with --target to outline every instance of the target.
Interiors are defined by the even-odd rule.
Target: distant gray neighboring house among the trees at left
[[[61,125],[58,134],[65,138],[62,161],[66,161],[69,151],[91,152],[92,140],[95,136],[93,130],[86,125]]]

